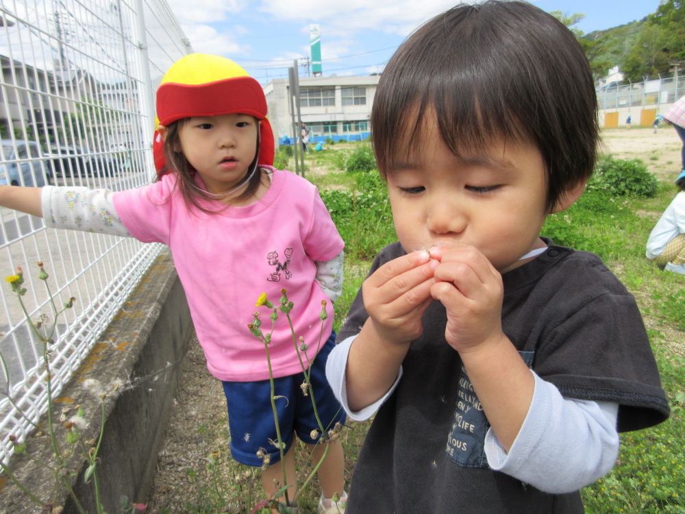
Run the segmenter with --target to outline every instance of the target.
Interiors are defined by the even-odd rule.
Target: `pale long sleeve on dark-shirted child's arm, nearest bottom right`
[[[551,382],[531,373],[535,389],[519,435],[507,454],[488,429],[488,465],[540,491],[577,491],[608,473],[616,461],[619,405],[564,398]]]

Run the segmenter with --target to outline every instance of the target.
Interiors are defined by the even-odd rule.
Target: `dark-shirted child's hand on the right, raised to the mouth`
[[[475,247],[434,247],[440,260],[431,295],[445,306],[445,339],[458,352],[497,344],[502,332],[502,278]]]

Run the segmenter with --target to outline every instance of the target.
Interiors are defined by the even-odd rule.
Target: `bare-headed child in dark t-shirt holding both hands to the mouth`
[[[399,242],[327,363],[377,410],[347,513],[582,513],[617,431],[669,415],[634,297],[539,235],[595,164],[582,48],[529,3],[458,5],[388,62],[371,127]]]

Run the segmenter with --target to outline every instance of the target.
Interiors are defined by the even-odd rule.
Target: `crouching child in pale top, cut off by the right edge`
[[[647,239],[647,258],[653,259],[661,269],[685,275],[685,169],[675,185],[679,189],[677,195]]]

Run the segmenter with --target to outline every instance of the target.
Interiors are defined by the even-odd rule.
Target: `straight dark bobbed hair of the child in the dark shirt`
[[[396,156],[421,151],[414,141],[427,112],[458,158],[501,139],[534,144],[545,162],[549,209],[595,165],[597,98],[583,49],[529,3],[458,5],[403,42],[381,75],[371,112],[383,175]]]

